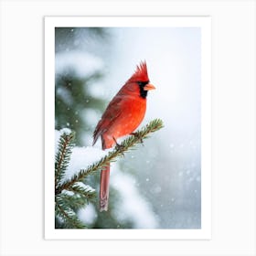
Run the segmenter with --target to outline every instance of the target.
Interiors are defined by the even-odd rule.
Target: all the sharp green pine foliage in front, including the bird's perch
[[[87,166],[85,169],[78,170],[78,173],[65,179],[65,171],[69,166],[70,155],[74,147],[75,133],[64,132],[59,138],[59,147],[56,154],[55,163],[55,217],[56,228],[59,229],[84,229],[86,224],[77,217],[77,211],[80,208],[93,201],[96,197],[95,189],[85,185],[87,178],[105,165],[116,161],[117,157],[123,156],[125,152],[133,149],[135,144],[140,144],[149,137],[150,133],[161,129],[163,122],[160,119],[145,125],[141,130],[127,139],[122,144],[117,144],[108,155],[101,158],[100,161]],[[106,215],[109,215],[108,213]],[[111,216],[109,216],[111,217]]]

